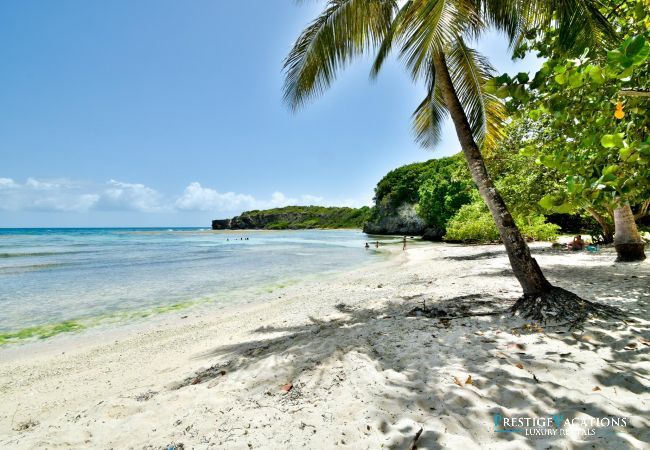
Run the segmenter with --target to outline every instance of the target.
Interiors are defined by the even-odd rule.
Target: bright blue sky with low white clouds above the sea
[[[451,122],[424,150],[424,96],[393,59],[342,71],[298,112],[282,60],[323,2],[0,2],[0,227],[206,226],[249,209],[370,205],[388,171],[460,150]],[[503,38],[477,44],[497,72]]]

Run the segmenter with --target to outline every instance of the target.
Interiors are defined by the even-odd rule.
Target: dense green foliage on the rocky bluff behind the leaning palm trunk
[[[509,124],[506,138],[486,155],[486,164],[522,234],[530,240],[552,240],[560,227],[547,223],[539,201],[559,189],[560,175],[519,153],[523,136],[531,126],[530,120]],[[446,231],[446,240],[499,239],[494,220],[460,154],[395,169],[382,178],[375,192],[375,218],[403,203],[417,204],[419,215],[429,226],[442,230],[442,234]]]

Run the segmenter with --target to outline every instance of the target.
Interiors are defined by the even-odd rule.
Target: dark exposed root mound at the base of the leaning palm
[[[589,317],[625,317],[619,308],[584,300],[573,292],[555,286],[540,294],[524,294],[510,308],[510,312],[541,324],[566,321],[570,330],[581,328]]]

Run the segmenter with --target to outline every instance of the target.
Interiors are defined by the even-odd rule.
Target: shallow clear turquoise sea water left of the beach
[[[0,229],[0,344],[254,298],[376,260],[366,240],[349,230]]]

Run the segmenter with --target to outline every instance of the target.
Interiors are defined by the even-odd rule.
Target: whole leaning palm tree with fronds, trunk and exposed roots
[[[467,42],[488,28],[503,32],[511,47],[532,28],[553,26],[567,50],[612,35],[590,0],[329,0],[286,57],[285,101],[297,109],[321,94],[355,56],[375,52],[376,76],[392,49],[414,80],[424,80],[425,99],[413,115],[416,139],[436,144],[451,116],[472,178],[494,218],[523,296],[513,312],[537,321],[561,318],[579,324],[590,314],[615,310],[552,286],[531,256],[485,167],[482,149],[498,144],[502,103],[484,90],[489,61]]]

